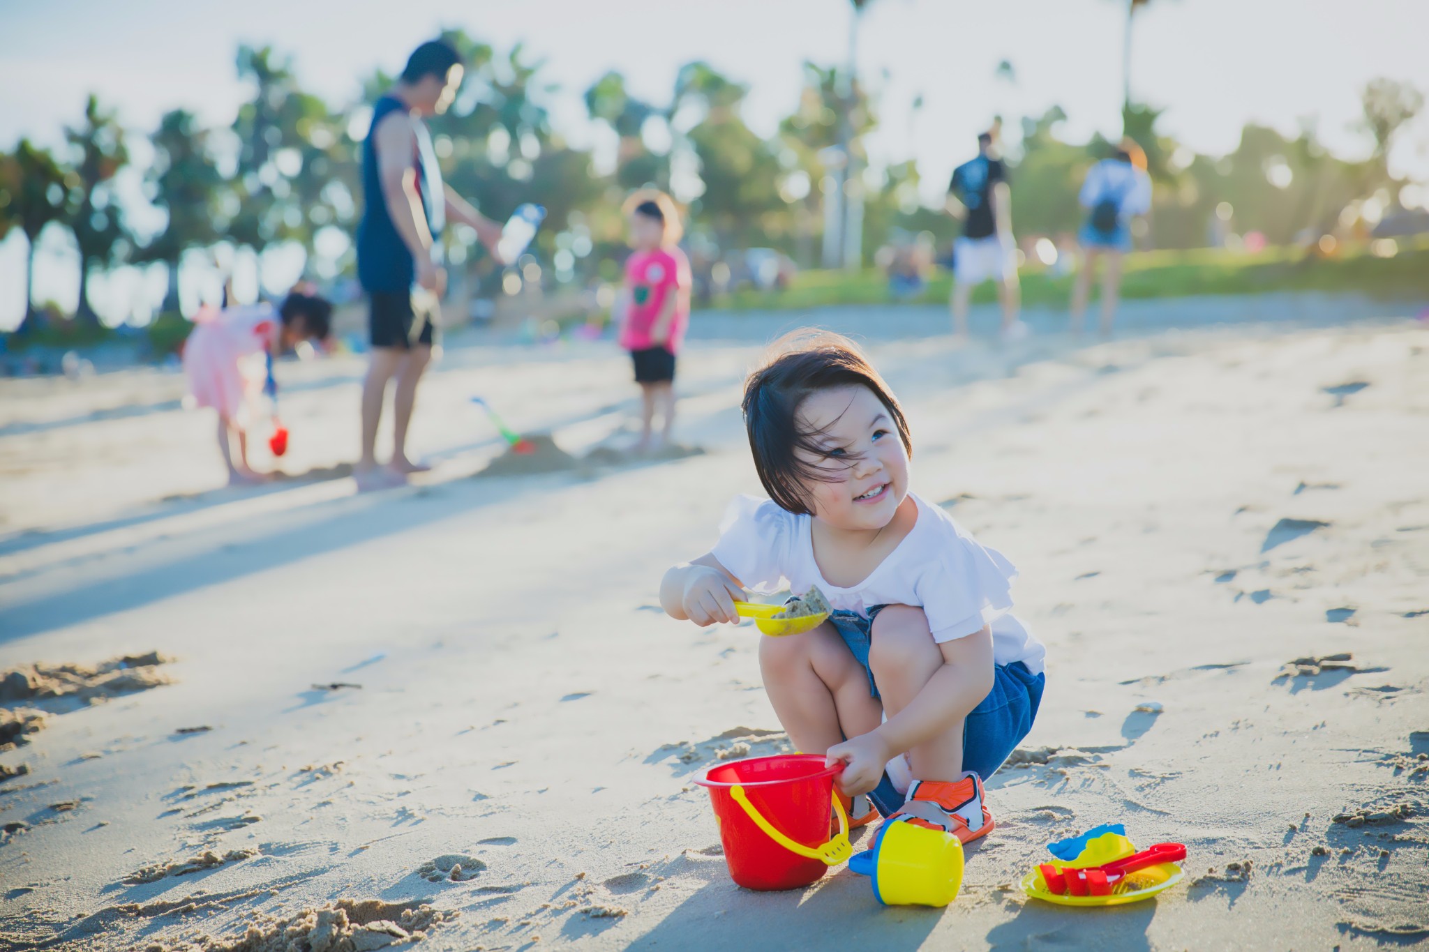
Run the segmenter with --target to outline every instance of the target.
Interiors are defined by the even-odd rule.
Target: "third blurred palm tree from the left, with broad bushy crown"
[[[193,113],[181,108],[164,113],[150,141],[154,164],[146,177],[149,197],[169,220],[136,258],[169,265],[169,293],[161,310],[177,311],[183,253],[210,245],[223,234],[219,194],[224,178],[209,151],[209,131],[199,126]]]

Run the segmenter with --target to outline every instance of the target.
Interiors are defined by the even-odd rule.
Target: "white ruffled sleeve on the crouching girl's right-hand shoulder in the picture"
[[[949,525],[947,545],[919,579],[917,595],[933,641],[977,634],[1012,611],[1017,568],[995,548]]]

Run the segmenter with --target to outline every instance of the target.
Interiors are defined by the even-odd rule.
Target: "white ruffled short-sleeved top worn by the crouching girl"
[[[966,638],[992,625],[993,661],[1016,661],[1040,674],[1046,648],[1012,614],[1017,568],[997,550],[979,545],[942,507],[916,494],[917,521],[857,585],[832,585],[813,557],[813,517],[787,512],[772,500],[736,497],[712,550],[745,588],[772,594],[817,585],[835,608],[867,617],[873,605],[916,605],[933,641]]]

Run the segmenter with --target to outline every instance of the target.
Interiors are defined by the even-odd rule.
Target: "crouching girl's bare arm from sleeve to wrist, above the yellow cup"
[[[913,701],[873,731],[887,745],[889,758],[930,741],[947,725],[972,714],[993,685],[992,628],[937,645],[943,667]]]

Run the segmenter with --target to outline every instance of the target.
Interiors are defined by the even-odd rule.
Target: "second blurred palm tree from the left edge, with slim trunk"
[[[129,161],[124,130],[111,110],[103,110],[90,94],[84,104],[84,121],[66,127],[64,137],[73,153],[74,183],[71,188],[70,230],[80,251],[80,298],[76,320],[99,325],[99,315],[90,305],[89,277],[91,265],[109,265],[127,244],[119,204],[114,201],[113,180]]]

